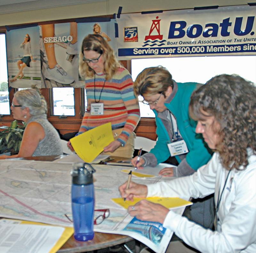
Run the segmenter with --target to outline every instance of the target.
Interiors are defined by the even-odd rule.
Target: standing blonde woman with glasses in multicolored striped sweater
[[[79,73],[85,79],[87,110],[78,134],[111,122],[114,141],[104,147],[113,156],[132,158],[133,132],[140,120],[132,77],[113,49],[100,35],[84,38],[79,54]],[[68,147],[72,150],[70,142]]]

